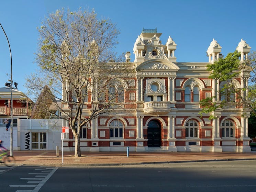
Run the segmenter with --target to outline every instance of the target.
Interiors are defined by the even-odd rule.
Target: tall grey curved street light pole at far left
[[[1,25],[1,23],[0,23]],[[11,55],[11,85],[10,85],[10,88],[11,88],[11,138],[10,138],[10,143],[11,143],[11,146],[10,146],[10,155],[13,156],[13,133],[12,133],[12,123],[13,123],[13,118],[12,118],[12,52],[11,52],[11,46],[10,46],[10,43],[9,43],[9,40],[8,40],[8,37],[3,29],[3,26],[1,25],[2,27],[2,30],[4,32],[4,35],[7,39],[7,42],[8,42],[8,45],[9,45],[9,49],[10,49],[10,55]]]

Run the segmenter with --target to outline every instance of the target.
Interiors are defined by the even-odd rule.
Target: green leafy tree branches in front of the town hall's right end
[[[202,106],[202,110],[199,113],[200,115],[225,108],[227,109],[234,105],[246,110],[251,110],[253,108],[252,100],[245,97],[245,91],[252,93],[250,87],[238,88],[239,86],[237,86],[240,79],[246,82],[246,79],[250,77],[250,71],[253,70],[249,60],[247,59],[244,62],[241,62],[240,56],[240,53],[235,51],[227,54],[225,58],[219,58],[213,64],[207,65],[207,70],[211,71],[209,78],[218,79],[219,83],[224,83],[219,90],[219,94],[221,95],[220,101],[213,100],[214,97],[202,99],[200,101]],[[242,94],[242,92],[244,92],[244,94]],[[253,96],[252,94],[248,94],[248,97],[249,95]],[[211,113],[209,118],[215,118],[213,113]]]

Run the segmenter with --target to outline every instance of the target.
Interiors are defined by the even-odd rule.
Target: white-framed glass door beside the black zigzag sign
[[[32,149],[46,149],[46,132],[32,132]]]

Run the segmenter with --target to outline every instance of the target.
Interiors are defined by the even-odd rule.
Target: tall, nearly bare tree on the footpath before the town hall
[[[75,138],[75,156],[80,157],[81,127],[103,113],[124,108],[135,67],[113,52],[118,44],[116,26],[98,19],[93,10],[57,10],[44,19],[38,32],[36,63],[40,70],[27,78],[27,88],[37,98],[48,86],[48,97],[55,98],[60,118],[68,121]],[[40,102],[47,103],[48,97]],[[44,107],[47,104],[41,106],[56,115]]]

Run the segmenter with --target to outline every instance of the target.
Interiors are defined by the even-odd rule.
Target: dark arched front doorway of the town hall
[[[152,120],[148,123],[147,139],[148,147],[161,146],[161,124],[157,120]]]

